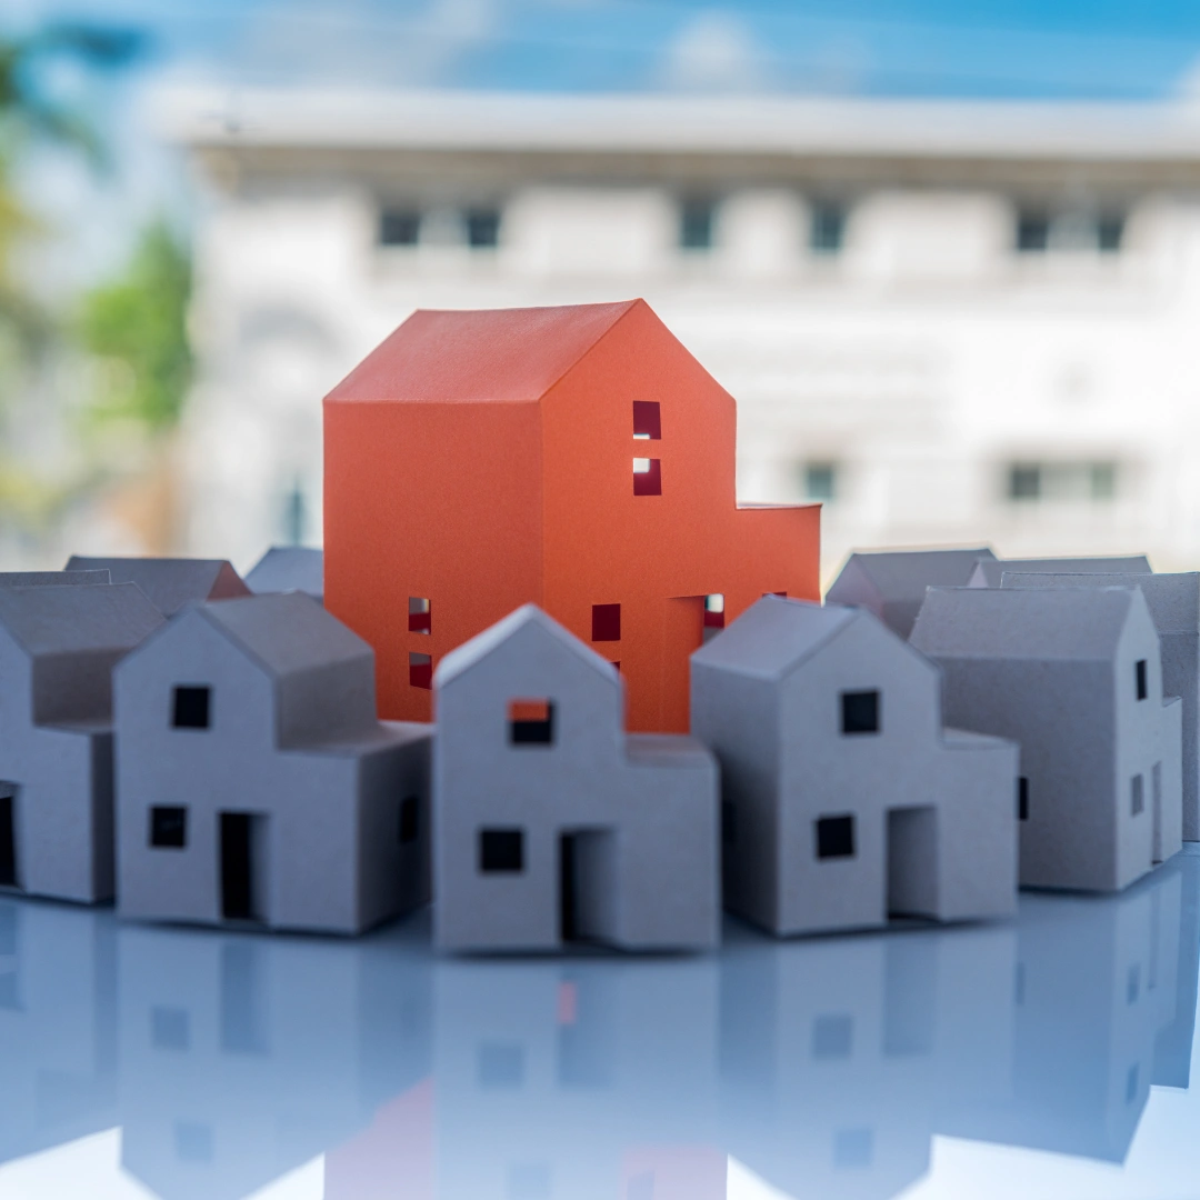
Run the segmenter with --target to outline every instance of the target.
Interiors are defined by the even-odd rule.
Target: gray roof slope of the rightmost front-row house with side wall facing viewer
[[[938,658],[1106,661],[1136,587],[930,588],[910,642]]]

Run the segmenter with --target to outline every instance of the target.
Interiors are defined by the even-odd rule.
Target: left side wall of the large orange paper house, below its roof
[[[329,402],[324,420],[325,606],[374,648],[380,715],[427,721],[409,655],[436,666],[541,600],[539,406]]]

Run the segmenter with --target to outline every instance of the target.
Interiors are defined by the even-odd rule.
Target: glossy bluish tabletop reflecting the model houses
[[[1013,924],[689,959],[0,898],[0,1198],[1193,1196],[1193,850]]]

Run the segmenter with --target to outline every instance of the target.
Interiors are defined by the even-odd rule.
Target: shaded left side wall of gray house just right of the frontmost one
[[[779,911],[781,769],[776,685],[694,660],[691,731],[721,767],[725,907],[773,929]]]

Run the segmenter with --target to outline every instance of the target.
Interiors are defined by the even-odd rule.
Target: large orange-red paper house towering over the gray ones
[[[325,604],[383,715],[428,720],[438,659],[533,601],[620,665],[631,728],[686,730],[704,625],[818,595],[820,509],[738,509],[736,425],[642,300],[404,322],[325,400]]]

